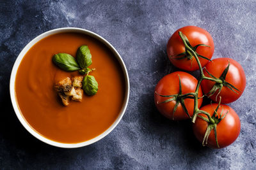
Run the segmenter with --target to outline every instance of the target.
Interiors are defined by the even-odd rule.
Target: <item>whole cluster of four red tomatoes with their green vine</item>
[[[191,118],[196,138],[211,148],[223,148],[239,136],[241,123],[230,106],[243,94],[246,78],[243,67],[230,58],[213,59],[214,42],[209,32],[186,26],[173,33],[167,53],[175,67],[184,71],[200,70],[196,79],[184,71],[164,76],[157,83],[155,104],[164,117],[172,120]],[[203,97],[213,102],[203,107]]]

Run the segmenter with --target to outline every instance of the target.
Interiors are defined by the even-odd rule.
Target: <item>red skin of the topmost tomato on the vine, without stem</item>
[[[187,71],[195,71],[199,69],[195,57],[193,57],[191,60],[187,58],[178,60],[178,58],[182,56],[176,56],[182,52],[185,52],[185,46],[182,39],[179,36],[179,31],[181,31],[188,38],[189,43],[192,46],[196,46],[199,44],[211,46],[211,48],[209,48],[208,46],[198,46],[198,48],[196,48],[196,52],[199,55],[207,57],[208,59],[211,59],[214,52],[214,43],[212,37],[209,34],[209,32],[205,31],[200,27],[186,26],[175,31],[172,34],[171,38],[169,39],[167,44],[167,54],[172,64],[180,69],[184,69]],[[199,60],[202,67],[204,67],[205,64],[209,62],[209,60],[202,59],[200,57]]]

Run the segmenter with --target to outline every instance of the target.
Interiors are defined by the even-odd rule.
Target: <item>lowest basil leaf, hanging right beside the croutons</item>
[[[91,75],[84,76],[83,89],[84,89],[84,92],[89,96],[92,96],[97,93],[98,83],[95,80],[94,76],[91,76]]]

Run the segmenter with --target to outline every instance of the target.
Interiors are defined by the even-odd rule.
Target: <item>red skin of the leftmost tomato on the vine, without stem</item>
[[[158,94],[161,95],[173,95],[179,93],[179,76],[180,76],[180,84],[182,89],[182,94],[195,92],[197,80],[195,77],[193,77],[191,74],[182,72],[182,71],[176,71],[170,74],[167,74],[164,76],[156,85],[156,92],[155,92],[155,104],[159,112],[164,115],[164,117],[170,118],[173,120],[184,120],[188,119],[188,115],[183,110],[181,104],[178,105],[177,110],[175,111],[173,115],[173,108],[176,104],[176,101],[170,101],[168,103],[161,103],[165,101],[166,99],[169,99],[167,97],[161,97]],[[157,94],[156,94],[157,93]],[[202,89],[200,87],[198,91],[198,96],[202,96]],[[161,103],[161,104],[157,104]],[[193,115],[193,109],[194,109],[194,99],[184,99],[184,104],[188,110],[188,113],[190,116]],[[198,107],[200,107],[202,104],[202,99],[198,99]]]

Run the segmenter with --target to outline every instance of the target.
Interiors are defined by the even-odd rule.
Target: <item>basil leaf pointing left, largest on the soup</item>
[[[55,54],[52,57],[52,61],[64,71],[76,71],[80,69],[76,62],[76,59],[68,53]]]

